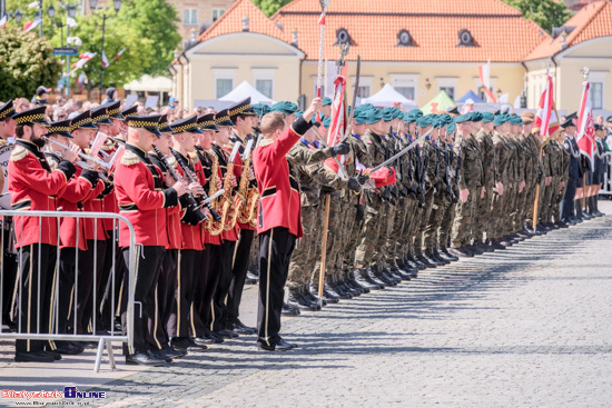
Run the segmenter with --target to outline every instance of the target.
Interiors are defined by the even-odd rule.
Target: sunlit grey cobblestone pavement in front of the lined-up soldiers
[[[611,245],[612,217],[586,221],[287,320],[297,350],[239,338],[98,390],[110,407],[610,407]]]

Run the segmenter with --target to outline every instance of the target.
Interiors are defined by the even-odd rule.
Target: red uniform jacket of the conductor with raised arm
[[[278,139],[261,140],[253,152],[253,166],[260,195],[257,233],[285,227],[297,238],[304,236],[299,183],[289,172],[285,156],[310,126],[299,117]]]

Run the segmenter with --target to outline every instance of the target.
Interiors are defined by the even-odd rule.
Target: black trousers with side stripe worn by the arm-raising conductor
[[[280,311],[285,282],[296,237],[287,228],[277,227],[259,235],[259,305],[257,341],[274,346],[280,340]]]

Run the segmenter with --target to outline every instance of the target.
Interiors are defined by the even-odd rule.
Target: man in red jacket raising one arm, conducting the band
[[[289,350],[296,347],[280,336],[280,311],[285,282],[295,240],[304,236],[299,185],[289,172],[285,156],[312,127],[310,119],[320,109],[320,99],[313,100],[304,115],[289,128],[285,115],[272,112],[261,119],[264,140],[253,153],[260,201],[259,235],[259,305],[257,346],[264,350]]]

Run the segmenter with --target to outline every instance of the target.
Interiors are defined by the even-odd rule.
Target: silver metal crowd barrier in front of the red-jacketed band
[[[23,242],[23,221],[21,222],[14,222],[16,217],[21,217],[22,219],[28,218],[30,221],[33,219],[38,219],[38,233],[39,239],[38,242],[42,242],[42,220],[51,218],[51,222],[57,223],[57,246],[55,249],[51,250],[51,252],[55,251],[55,271],[53,276],[51,277],[52,280],[49,278],[46,280],[46,285],[41,282],[41,245],[38,245],[38,253],[30,253],[29,262],[30,268],[32,268],[32,257],[37,256],[37,265],[38,265],[38,271],[37,271],[37,283],[34,288],[34,293],[32,293],[31,287],[32,287],[32,279],[29,279],[29,282],[26,283],[29,285],[30,290],[28,290],[27,293],[23,293],[23,275],[19,271],[21,270],[21,262],[23,261],[23,246],[18,245],[19,242],[16,241],[16,232],[17,229],[20,229],[19,232],[21,232],[19,236],[21,237],[21,243]],[[93,219],[93,237],[96,238],[98,236],[98,220],[101,219],[111,219],[112,220],[112,230],[108,230],[109,232],[112,231],[112,238],[111,240],[106,240],[107,242],[111,242],[112,245],[112,258],[111,258],[111,267],[109,275],[106,279],[103,279],[103,275],[101,277],[98,276],[98,262],[103,262],[105,258],[107,257],[107,253],[98,253],[98,242],[100,240],[93,239],[93,246],[92,250],[92,287],[91,287],[91,299],[90,301],[86,302],[87,306],[91,306],[90,312],[91,318],[89,319],[89,329],[90,332],[77,332],[77,328],[79,325],[82,327],[82,321],[78,321],[78,301],[79,301],[79,277],[81,279],[85,278],[86,273],[88,273],[88,269],[83,269],[82,265],[79,266],[79,256],[82,258],[86,253],[86,251],[79,250],[79,241],[81,239],[87,239],[86,237],[80,237],[80,232],[82,230],[82,222],[87,222],[86,219]],[[136,279],[136,270],[138,267],[138,257],[136,251],[136,243],[135,243],[135,232],[132,225],[128,221],[127,218],[117,215],[117,213],[110,213],[110,212],[87,212],[87,211],[18,211],[18,210],[0,210],[0,220],[2,221],[2,235],[0,239],[1,248],[0,251],[0,263],[1,263],[1,278],[0,279],[0,325],[4,327],[6,325],[11,324],[11,321],[6,321],[6,317],[9,316],[9,318],[14,317],[13,311],[19,308],[19,303],[21,302],[22,296],[29,296],[28,306],[30,305],[31,297],[36,295],[36,305],[37,310],[36,314],[36,332],[31,332],[30,330],[30,316],[33,316],[32,311],[28,314],[28,322],[27,322],[27,332],[23,332],[23,321],[22,321],[22,314],[18,312],[17,321],[12,321],[13,325],[17,325],[16,331],[10,332],[0,332],[0,339],[24,339],[24,340],[63,340],[63,341],[97,341],[98,342],[98,351],[96,355],[96,362],[93,370],[96,372],[100,369],[100,364],[103,355],[103,349],[106,347],[108,352],[108,360],[110,368],[113,369],[116,367],[115,365],[115,356],[112,354],[112,341],[121,341],[122,344],[127,342],[130,347],[134,346],[134,306],[135,306],[135,279]],[[68,303],[69,311],[68,314],[71,314],[70,319],[68,319],[67,325],[70,322],[72,324],[72,327],[70,330],[66,330],[66,332],[59,332],[60,328],[60,321],[59,321],[59,305],[60,301],[62,301],[62,305],[66,305],[66,299],[60,299],[60,273],[66,272],[69,273],[69,271],[63,270],[63,268],[60,267],[60,259],[71,261],[69,250],[71,248],[60,248],[61,241],[60,241],[60,228],[61,228],[61,221],[62,220],[70,220],[75,222],[75,233],[76,233],[76,245],[73,249],[75,253],[75,267],[73,267],[73,285],[72,288],[68,288],[70,292],[70,302]],[[121,252],[119,251],[119,248],[117,246],[117,238],[118,238],[118,226],[119,223],[125,223],[130,233],[130,243],[129,243],[129,255],[128,259],[129,262],[127,262],[127,270],[122,270],[124,275],[127,272],[127,280],[124,278],[124,281],[127,281],[128,288],[125,290],[125,287],[121,287],[121,282],[116,281],[117,279],[117,265],[122,265],[121,262],[117,261],[117,256]],[[70,228],[70,227],[69,227]],[[82,243],[82,242],[81,242]],[[18,248],[17,248],[18,247]],[[30,248],[30,251],[33,247]],[[61,253],[63,252],[65,257],[61,257]],[[52,253],[51,253],[52,255]],[[11,268],[11,261],[9,259],[6,259],[6,257],[9,256],[16,256],[17,257],[17,276],[13,277],[14,282],[13,289],[7,291],[4,286],[11,283],[11,273],[9,272],[9,268]],[[68,257],[67,257],[68,256]],[[68,258],[68,259],[67,259]],[[108,258],[107,258],[108,259]],[[81,262],[82,263],[82,262]],[[63,263],[62,263],[63,265]],[[14,265],[12,265],[14,267]],[[81,268],[81,271],[79,272],[79,268]],[[87,268],[87,265],[86,265]],[[105,268],[106,269],[106,268]],[[28,278],[32,277],[33,271],[30,269]],[[102,270],[102,273],[105,273],[105,270]],[[66,277],[66,275],[63,275]],[[90,277],[90,276],[88,276]],[[102,281],[105,280],[105,281]],[[87,280],[85,280],[87,282]],[[110,296],[106,297],[100,300],[98,296],[99,291],[99,285],[107,285],[105,288],[105,292],[110,291]],[[49,289],[48,286],[51,285],[51,288]],[[46,293],[41,293],[41,289],[43,291],[47,291],[47,296],[50,296],[51,305],[42,305],[42,301],[45,301]],[[66,293],[67,287],[63,286],[62,292]],[[125,291],[128,295],[127,301],[124,301],[125,305],[125,311],[126,311],[126,332],[119,331],[115,328],[115,316],[117,314],[118,306],[116,293]],[[11,299],[6,299],[4,297],[7,293],[12,293]],[[106,295],[106,293],[105,293]],[[19,299],[19,300],[17,300]],[[17,301],[16,301],[17,300]],[[110,305],[107,303],[107,301],[110,301]],[[10,305],[10,310],[3,310],[7,305]],[[48,309],[46,309],[46,306],[48,306]],[[80,305],[80,309],[82,310],[83,305]],[[105,330],[103,324],[100,324],[98,320],[98,314],[101,312],[102,307],[110,307],[110,331]],[[124,310],[122,310],[124,311]],[[42,314],[49,314],[47,316],[43,316]],[[101,315],[100,315],[101,316]],[[48,317],[48,321],[46,321],[46,317]],[[47,324],[47,328],[41,327],[41,321]],[[100,329],[100,326],[102,327]],[[4,330],[2,330],[4,331]],[[62,330],[63,331],[63,330]],[[70,331],[70,332],[68,332]]]

